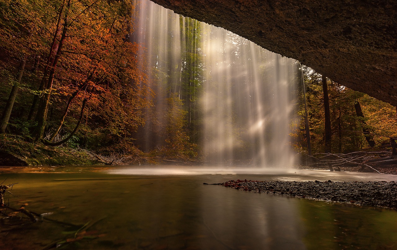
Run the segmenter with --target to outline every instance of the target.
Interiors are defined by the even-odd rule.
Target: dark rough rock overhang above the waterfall
[[[397,106],[395,0],[152,0]]]

